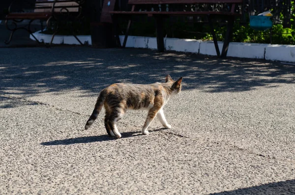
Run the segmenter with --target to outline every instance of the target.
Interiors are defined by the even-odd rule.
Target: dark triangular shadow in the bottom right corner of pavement
[[[295,180],[269,183],[210,195],[295,195]]]

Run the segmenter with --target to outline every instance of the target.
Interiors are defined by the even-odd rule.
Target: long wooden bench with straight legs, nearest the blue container
[[[187,11],[187,10],[181,10],[178,9],[177,7],[183,7],[183,5],[191,5],[191,4],[200,4],[200,3],[210,3],[210,4],[224,4],[229,7],[227,10],[223,11],[210,11],[210,10],[197,10],[197,11]],[[122,47],[125,47],[127,37],[128,37],[128,32],[129,28],[132,22],[132,16],[133,15],[148,15],[149,17],[154,17],[156,20],[156,36],[157,36],[157,50],[158,52],[164,52],[164,31],[163,31],[163,26],[164,26],[164,18],[169,17],[169,16],[200,16],[204,15],[207,17],[211,33],[213,36],[213,41],[216,49],[216,54],[218,57],[226,57],[229,43],[232,39],[232,34],[233,34],[233,26],[234,26],[234,21],[235,18],[240,16],[239,13],[235,12],[236,11],[236,5],[241,4],[242,0],[129,0],[128,4],[132,5],[131,11],[109,11],[109,13],[113,16],[114,23],[117,23],[118,21],[118,16],[128,16],[129,21],[125,33],[125,38],[123,41]],[[148,11],[142,11],[144,9],[141,9],[141,6],[146,6],[146,5],[163,5],[161,10],[148,10]],[[176,8],[176,11],[171,11],[171,10],[165,10],[166,6],[172,5],[174,8]],[[220,55],[220,51],[218,48],[217,44],[217,38],[214,32],[213,28],[213,23],[212,23],[212,18],[213,17],[225,17],[227,20],[227,32],[226,36],[224,39],[223,43],[223,48],[222,48],[222,53]]]

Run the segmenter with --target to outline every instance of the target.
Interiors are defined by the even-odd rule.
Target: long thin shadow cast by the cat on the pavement
[[[150,132],[155,131],[161,131],[165,128],[156,129]],[[135,132],[124,132],[121,133],[121,138],[130,138],[130,137],[136,137],[136,136],[144,136],[140,131]],[[86,136],[81,138],[69,138],[69,139],[59,139],[54,141],[47,141],[40,143],[41,145],[70,145],[70,144],[76,144],[76,143],[90,143],[90,142],[100,142],[100,141],[110,141],[110,140],[116,140],[118,138],[110,137],[108,135],[101,135],[101,136]]]

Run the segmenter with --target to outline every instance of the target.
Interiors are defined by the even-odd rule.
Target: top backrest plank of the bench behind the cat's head
[[[241,3],[242,0],[128,0],[128,4]]]

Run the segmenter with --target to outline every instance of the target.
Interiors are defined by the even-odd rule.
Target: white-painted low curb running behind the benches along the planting
[[[51,41],[51,35],[46,35],[35,32],[36,38],[45,43]],[[91,45],[90,35],[77,36],[82,43],[88,42]],[[32,40],[33,37],[30,35]],[[121,44],[124,41],[124,35],[119,36]],[[203,54],[216,56],[216,50],[212,41],[202,41],[195,39],[177,39],[177,38],[164,38],[165,49],[167,51],[177,52],[190,52],[195,54]],[[79,44],[73,36],[56,35],[54,44]],[[219,51],[222,51],[223,42],[218,42]],[[148,48],[157,49],[157,39],[155,37],[142,37],[142,36],[128,36],[126,47],[129,48]],[[235,43],[231,42],[227,56],[231,57],[245,57],[245,58],[258,58],[267,60],[279,60],[286,62],[295,62],[295,45],[270,45],[270,44],[257,44],[257,43]]]

